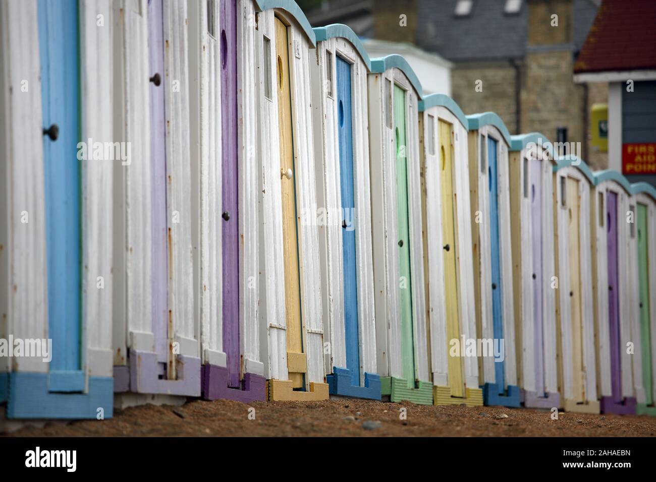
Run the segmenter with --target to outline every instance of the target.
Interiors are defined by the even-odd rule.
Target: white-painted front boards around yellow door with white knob
[[[310,382],[323,383],[323,322],[321,319],[321,281],[319,268],[319,239],[316,224],[308,222],[304,216],[312,216],[316,206],[314,134],[312,128],[312,85],[310,82],[310,52],[312,43],[288,12],[269,9],[256,12],[256,7],[248,14],[244,10],[243,20],[248,18],[247,28],[253,31],[253,50],[244,51],[242,58],[253,62],[258,68],[257,85],[254,90],[245,90],[244,98],[256,99],[257,122],[244,112],[244,135],[257,139],[260,171],[258,172],[260,203],[260,359],[264,361],[264,376],[276,380],[287,380],[287,338],[285,325],[285,284],[283,280],[283,240],[282,210],[280,190],[280,159],[277,89],[274,88],[277,58],[274,18],[278,17],[288,27],[289,71],[291,87],[291,111],[294,143],[294,162],[296,168],[296,195],[298,220],[298,258],[300,275],[300,301],[303,321],[302,337],[304,353],[307,353],[308,376],[306,390]],[[253,16],[251,16],[251,11]],[[246,28],[246,27],[244,27]],[[269,50],[264,52],[264,38],[270,39]],[[314,52],[312,52],[314,54]],[[264,55],[270,56],[272,77],[264,78]],[[272,98],[264,96],[264,82],[270,83]],[[245,87],[253,89],[253,85]],[[247,125],[248,124],[248,125]],[[255,129],[260,129],[257,134]],[[247,129],[249,131],[247,132]],[[266,327],[266,329],[264,329]]]

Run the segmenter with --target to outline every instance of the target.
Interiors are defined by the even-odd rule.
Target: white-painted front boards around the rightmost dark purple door
[[[607,243],[607,195],[617,194],[617,281],[619,285],[619,350],[621,354],[620,367],[622,377],[622,396],[636,397],[638,403],[644,403],[645,393],[642,386],[642,358],[640,356],[640,287],[638,285],[638,243],[637,234],[631,236],[631,228],[637,233],[635,225],[636,200],[630,193],[613,180],[605,180],[594,187],[592,191],[592,209],[590,224],[594,233],[594,251],[592,262],[594,304],[596,315],[596,332],[598,336],[598,397],[610,397],[611,390],[611,350],[610,325],[608,311],[608,243]],[[600,198],[603,198],[600,206]],[[629,214],[634,208],[630,224]],[[602,209],[602,216],[600,216]],[[604,223],[600,220],[603,217]],[[627,343],[634,344],[634,353],[627,353]]]

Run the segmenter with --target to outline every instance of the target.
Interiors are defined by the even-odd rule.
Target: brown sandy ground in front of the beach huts
[[[255,409],[255,420],[249,419]],[[407,418],[401,418],[405,408]],[[503,417],[502,415],[507,415]],[[251,411],[253,418],[253,411]],[[190,401],[142,405],[109,420],[22,428],[11,436],[316,436],[316,437],[623,437],[656,435],[656,417],[588,415],[504,407],[426,407],[365,400],[316,402]]]

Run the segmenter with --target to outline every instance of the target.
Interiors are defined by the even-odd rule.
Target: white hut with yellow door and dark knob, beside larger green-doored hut
[[[467,128],[449,96],[420,100],[426,331],[435,405],[483,405],[476,357],[451,351],[451,340],[460,346],[461,336],[476,338]]]

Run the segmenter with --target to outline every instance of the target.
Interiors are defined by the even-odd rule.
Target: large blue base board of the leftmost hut
[[[114,382],[111,377],[91,376],[89,393],[52,393],[48,375],[34,372],[9,374],[7,418],[112,418]]]

